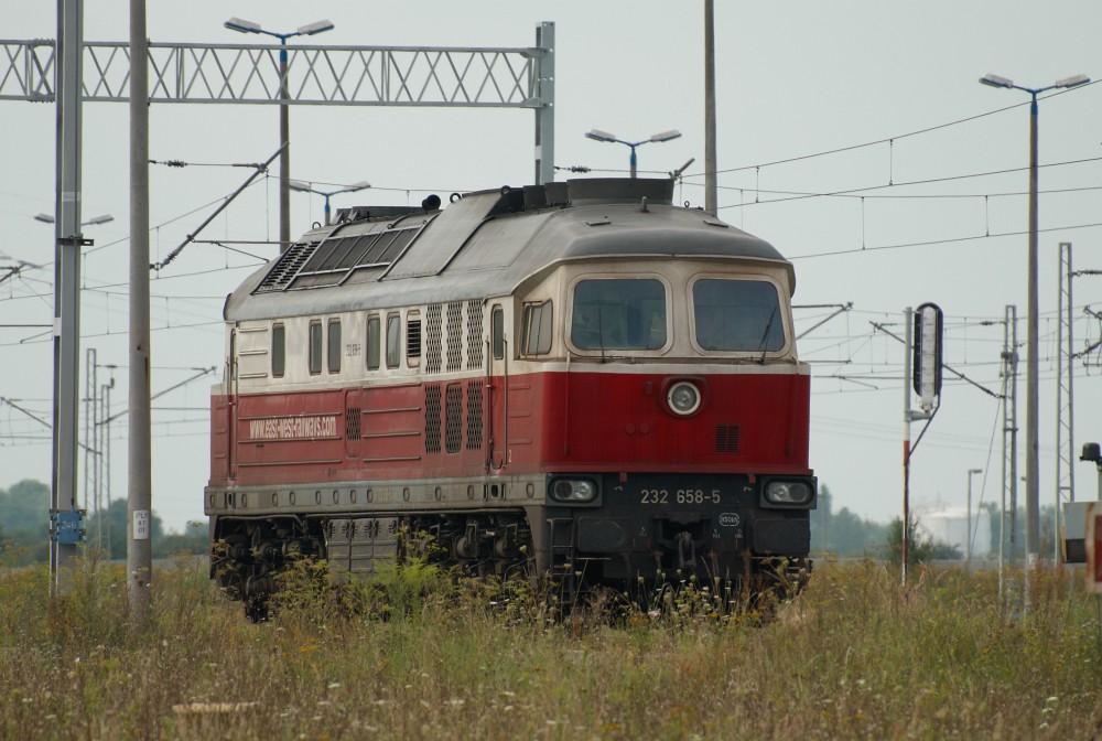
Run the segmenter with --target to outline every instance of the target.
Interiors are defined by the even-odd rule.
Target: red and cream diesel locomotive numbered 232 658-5
[[[371,573],[407,533],[570,590],[807,568],[792,266],[672,193],[347,210],[247,279],[212,391],[222,586],[262,605],[289,559]]]

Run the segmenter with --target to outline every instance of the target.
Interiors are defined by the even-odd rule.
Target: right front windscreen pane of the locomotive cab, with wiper
[[[764,353],[785,346],[777,287],[764,280],[702,278],[692,287],[702,350]]]

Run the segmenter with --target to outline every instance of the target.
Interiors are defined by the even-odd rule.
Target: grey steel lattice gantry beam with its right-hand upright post
[[[0,100],[54,101],[53,40],[0,40]],[[151,103],[529,108],[536,182],[553,180],[554,23],[530,47],[287,46],[281,100],[278,44],[149,44]],[[84,100],[129,99],[130,47],[85,42]]]

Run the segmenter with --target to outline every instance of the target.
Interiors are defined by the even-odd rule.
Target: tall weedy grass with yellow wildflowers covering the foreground
[[[1057,572],[1028,620],[988,576],[824,565],[771,619],[688,589],[549,620],[523,587],[431,567],[339,588],[304,567],[251,624],[203,566],[84,562],[64,597],[0,573],[3,739],[1091,738],[1102,733],[1093,599]]]

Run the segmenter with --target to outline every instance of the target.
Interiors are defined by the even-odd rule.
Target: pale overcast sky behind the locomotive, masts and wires
[[[7,39],[54,37],[53,4],[21,3],[17,10],[9,3],[0,10],[0,33]],[[947,363],[1000,390],[998,322],[1006,304],[1018,305],[1022,343],[1026,336],[1026,237],[984,235],[1026,228],[1028,96],[976,80],[988,72],[1036,87],[1080,73],[1102,78],[1096,62],[1102,4],[720,0],[716,6],[719,167],[725,171],[720,214],[795,261],[798,304],[854,303],[852,312],[801,343],[815,376],[811,462],[834,493],[836,507],[886,520],[901,508],[903,358],[900,346],[874,333],[869,322],[892,322],[898,330],[905,307],[939,303],[947,315]],[[336,29],[312,41],[334,45],[528,46],[534,44],[540,21],[554,21],[555,164],[625,171],[626,148],[594,142],[583,133],[599,128],[645,139],[678,128],[681,139],[639,149],[640,170],[666,172],[696,158],[679,198],[703,203],[703,2],[156,2],[149,8],[149,36],[195,43],[257,39],[225,30],[222,23],[229,15],[277,30],[325,18]],[[128,23],[128,3],[86,2],[87,41],[125,41]],[[119,366],[114,411],[125,409],[127,398],[127,112],[121,104],[84,107],[83,216],[110,213],[116,221],[87,229],[96,249],[83,264],[82,354],[95,347],[100,365]],[[270,106],[154,104],[150,157],[263,161],[278,146],[277,117]],[[1051,229],[1040,235],[1041,504],[1052,502],[1056,476],[1057,244],[1074,244],[1077,269],[1102,269],[1102,228],[1068,228],[1102,222],[1102,190],[1048,191],[1102,189],[1100,124],[1100,85],[1040,104],[1041,164],[1087,160],[1044,168],[1040,174],[1040,227]],[[0,266],[47,264],[0,283],[0,324],[48,324],[53,230],[32,216],[52,212],[54,204],[53,106],[0,101]],[[926,132],[916,133],[920,131]],[[446,201],[453,191],[529,183],[532,137],[529,111],[295,107],[292,176],[372,183],[371,191],[334,197],[334,207],[418,203],[425,191]],[[868,142],[882,143],[769,164]],[[1011,169],[1017,171],[968,176]],[[250,189],[203,236],[277,236],[276,174],[273,168],[270,179]],[[241,169],[153,167],[150,222],[162,226],[151,237],[151,257],[160,259],[176,247],[209,213],[199,208],[230,193],[247,175]],[[948,178],[959,179],[906,185]],[[895,185],[888,187],[889,180]],[[777,193],[851,189],[876,190],[862,191],[864,201],[852,195],[792,200]],[[950,194],[973,197],[898,197]],[[321,197],[292,193],[292,236],[321,214]],[[273,248],[245,249],[273,254]],[[153,281],[154,393],[194,375],[194,367],[220,365],[223,297],[257,262],[193,245]],[[1102,276],[1077,278],[1073,288],[1076,344],[1081,347],[1102,332],[1102,322],[1083,313],[1084,304],[1102,310]],[[798,311],[798,329],[824,313]],[[983,325],[988,320],[996,324]],[[0,396],[48,419],[52,352],[41,332],[0,327]],[[1023,373],[1024,361],[1023,348]],[[1098,353],[1091,362],[1090,367],[1077,365],[1077,447],[1102,438]],[[108,376],[101,367],[99,382]],[[208,387],[207,379],[199,380],[154,401],[153,506],[170,528],[203,516]],[[1020,453],[1024,379],[1018,409]],[[998,412],[995,399],[947,374],[942,409],[912,463],[916,506],[963,504],[971,468],[990,472],[974,480],[975,498],[997,501]],[[916,437],[920,427],[915,426]],[[126,440],[120,436],[125,418],[114,441],[114,497],[126,495]],[[48,482],[50,455],[47,431],[0,405],[0,486],[24,477]],[[1076,466],[1078,498],[1094,498],[1093,468]],[[1023,474],[1024,469],[1023,455]]]

